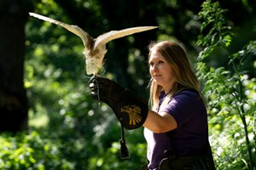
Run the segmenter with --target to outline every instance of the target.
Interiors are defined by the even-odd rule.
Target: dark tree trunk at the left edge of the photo
[[[28,1],[0,0],[0,132],[27,128],[23,66]]]

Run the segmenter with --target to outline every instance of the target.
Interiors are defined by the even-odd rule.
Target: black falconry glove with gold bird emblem
[[[148,116],[148,104],[137,94],[107,78],[90,80],[90,96],[109,105],[126,129],[141,127]]]

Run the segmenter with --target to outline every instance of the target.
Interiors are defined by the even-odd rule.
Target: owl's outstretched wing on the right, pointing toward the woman
[[[132,27],[132,28],[127,28],[124,30],[120,31],[109,31],[107,33],[102,34],[101,36],[96,38],[96,42],[94,44],[93,50],[96,49],[96,47],[102,43],[106,44],[110,42],[113,39],[117,39],[119,37],[125,37],[129,36],[131,34],[141,32],[141,31],[148,31],[157,28],[158,26],[137,26],[137,27]]]

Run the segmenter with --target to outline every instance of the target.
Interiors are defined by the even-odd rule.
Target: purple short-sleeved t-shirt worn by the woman
[[[165,94],[160,94],[160,105],[164,98]],[[160,161],[165,158],[165,150],[172,149],[177,156],[200,156],[207,153],[207,110],[199,94],[193,90],[183,90],[160,112],[172,115],[177,128],[168,133],[153,133],[144,128],[149,169],[158,169]]]

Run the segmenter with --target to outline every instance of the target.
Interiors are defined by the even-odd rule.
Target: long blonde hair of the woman
[[[174,73],[176,82],[172,86],[172,93],[168,94],[168,99],[170,100],[173,95],[182,91],[183,89],[192,88],[195,89],[198,94],[200,94],[205,105],[205,99],[201,94],[200,82],[195,76],[194,71],[192,71],[189,59],[187,57],[184,49],[178,45],[176,42],[163,41],[163,42],[152,42],[148,46],[149,54],[148,59],[153,51],[160,53],[166,61],[172,66],[172,71]],[[155,109],[159,104],[159,95],[163,90],[162,87],[156,84],[151,77],[148,84],[150,87],[149,95],[149,105]],[[163,104],[162,104],[163,105]]]

